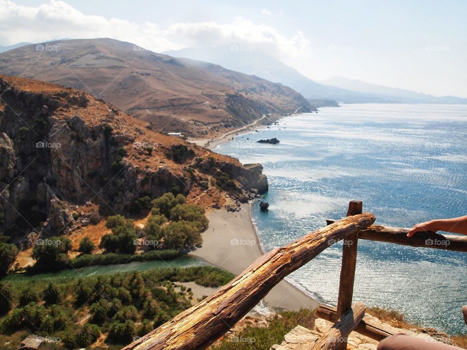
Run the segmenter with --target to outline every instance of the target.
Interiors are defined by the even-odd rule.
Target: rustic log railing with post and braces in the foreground
[[[428,232],[407,238],[407,229],[371,226],[375,216],[361,211],[361,202],[350,202],[347,217],[335,222],[328,221],[327,226],[269,251],[216,293],[122,350],[206,349],[246,315],[279,281],[343,239],[338,307],[320,306],[317,310],[318,316],[336,323],[313,349],[345,349],[347,335],[352,330],[377,340],[391,335],[362,321],[364,305],[356,303],[351,306],[358,239],[465,252],[467,237]]]

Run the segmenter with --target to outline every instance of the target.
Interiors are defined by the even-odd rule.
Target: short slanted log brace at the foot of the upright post
[[[347,346],[347,336],[357,327],[365,316],[365,305],[355,303],[339,320],[322,335],[312,350],[339,349],[340,344]]]

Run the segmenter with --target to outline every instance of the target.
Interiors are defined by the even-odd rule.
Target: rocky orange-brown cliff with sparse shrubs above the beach
[[[267,191],[261,165],[152,131],[84,92],[0,75],[0,96],[0,231],[23,247],[80,225],[84,206],[113,215],[167,191],[204,205]]]

